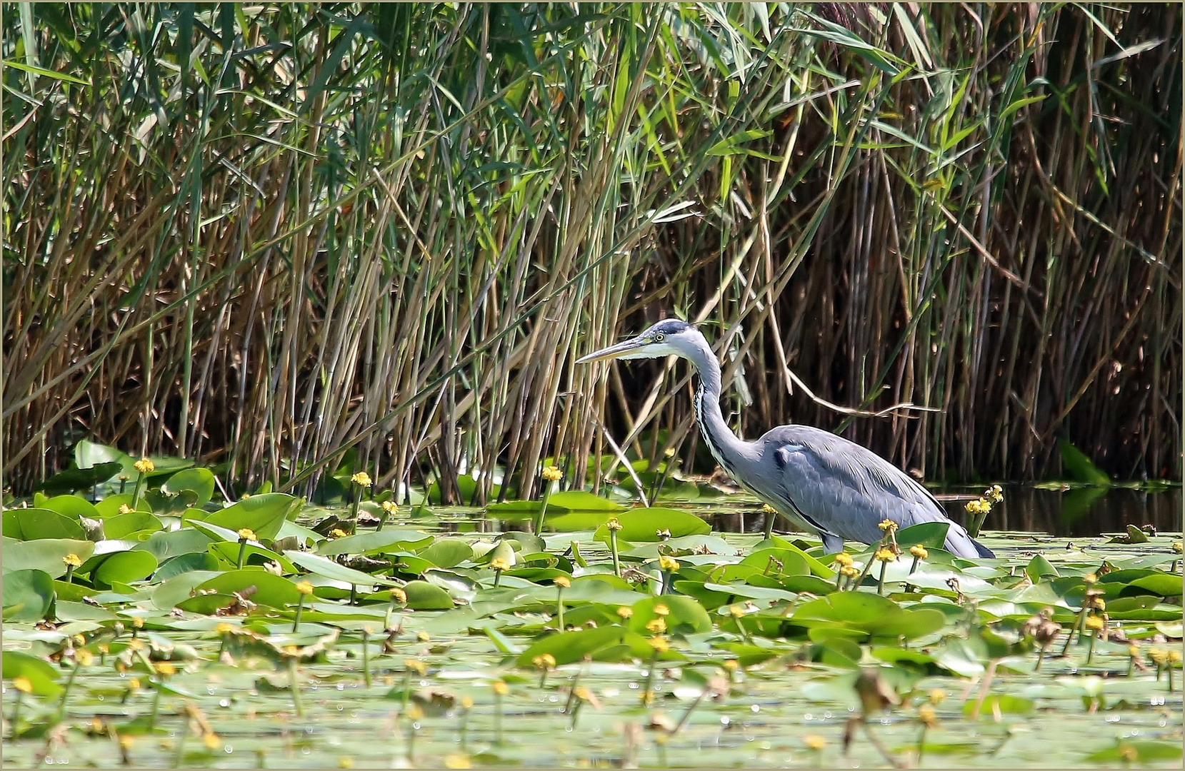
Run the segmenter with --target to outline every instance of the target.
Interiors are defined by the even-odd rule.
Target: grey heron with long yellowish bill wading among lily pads
[[[707,339],[684,321],[662,320],[636,338],[576,362],[670,355],[688,360],[699,374],[696,419],[716,461],[780,514],[818,533],[825,553],[843,551],[845,540],[879,541],[879,523],[889,519],[902,528],[948,522],[948,552],[972,559],[994,557],[947,518],[929,490],[867,448],[808,425],[780,425],[756,442],[732,433],[720,413],[720,365]]]

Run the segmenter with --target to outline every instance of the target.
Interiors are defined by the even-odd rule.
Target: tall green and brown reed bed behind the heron
[[[4,6],[2,470],[238,490],[710,471],[725,411],[930,478],[1181,478],[1178,5]],[[602,422],[604,424],[602,424]],[[461,484],[476,474],[476,489]],[[502,482],[495,493],[494,484]]]

